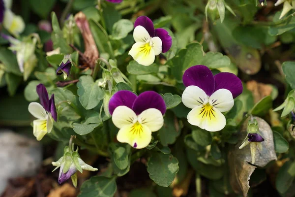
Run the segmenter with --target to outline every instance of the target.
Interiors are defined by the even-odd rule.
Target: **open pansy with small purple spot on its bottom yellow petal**
[[[148,146],[151,132],[162,128],[166,105],[164,99],[153,91],[136,96],[120,90],[110,99],[109,111],[114,125],[120,129],[118,141],[140,149]]]

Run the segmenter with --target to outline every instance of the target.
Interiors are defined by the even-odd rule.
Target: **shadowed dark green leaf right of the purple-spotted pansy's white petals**
[[[179,122],[172,111],[167,111],[164,117],[164,125],[159,130],[160,142],[163,146],[173,144],[180,134]]]

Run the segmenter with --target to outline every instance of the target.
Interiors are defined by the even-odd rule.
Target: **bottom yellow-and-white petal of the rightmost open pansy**
[[[191,125],[200,127],[207,131],[220,131],[226,125],[224,115],[211,106],[196,106],[187,114],[187,121]]]

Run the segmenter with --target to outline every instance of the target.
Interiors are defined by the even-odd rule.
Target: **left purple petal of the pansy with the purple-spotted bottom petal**
[[[127,106],[132,109],[134,100],[137,98],[136,94],[128,90],[120,90],[110,99],[109,111],[112,115],[114,110],[121,105]]]

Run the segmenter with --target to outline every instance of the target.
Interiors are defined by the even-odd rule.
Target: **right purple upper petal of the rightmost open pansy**
[[[233,73],[230,72],[220,72],[214,76],[215,78],[215,90],[227,89],[233,94],[235,99],[237,96],[242,94],[243,85],[241,80]]]

